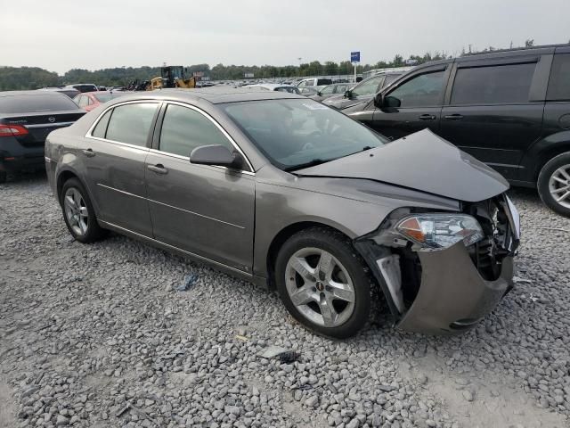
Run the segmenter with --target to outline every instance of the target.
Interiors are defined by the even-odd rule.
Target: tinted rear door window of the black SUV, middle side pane
[[[452,104],[526,103],[536,62],[458,69]]]

